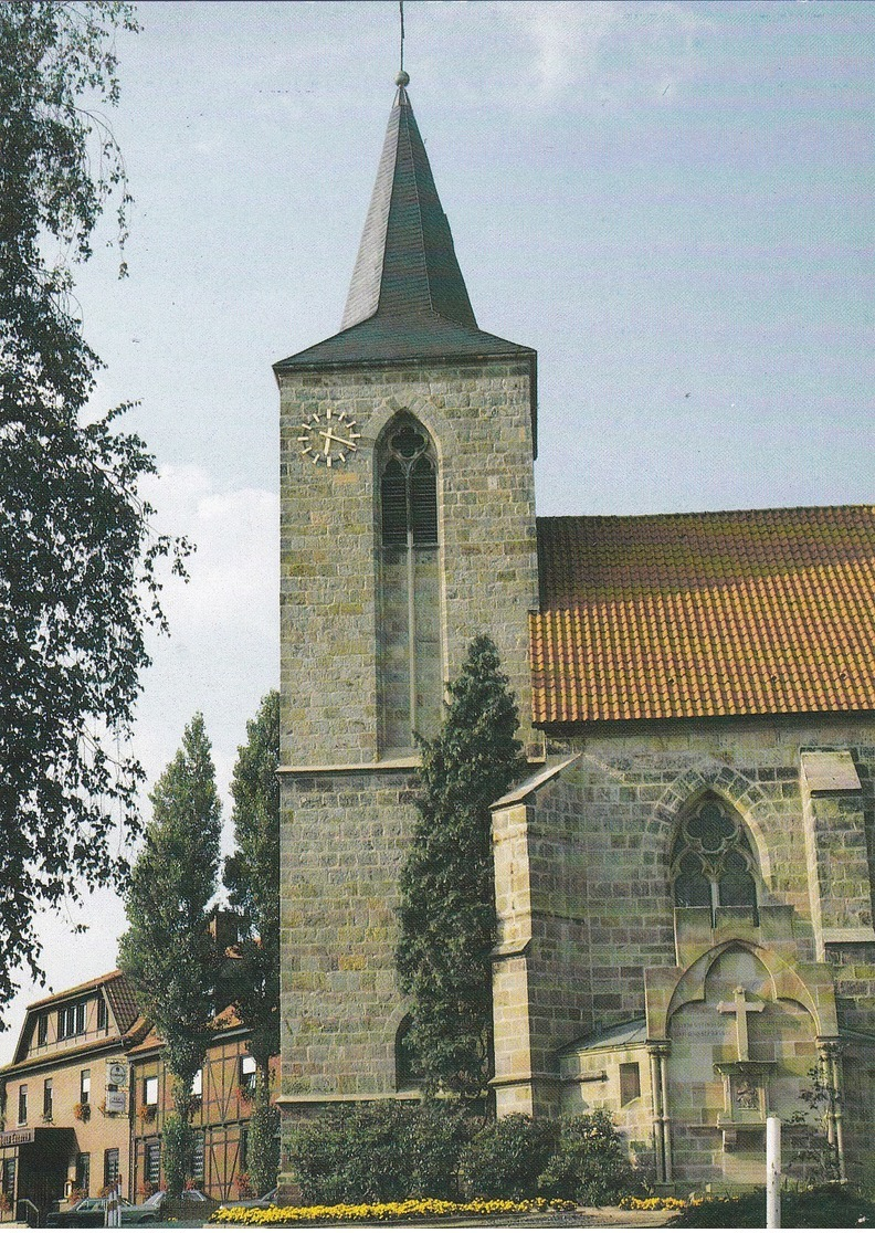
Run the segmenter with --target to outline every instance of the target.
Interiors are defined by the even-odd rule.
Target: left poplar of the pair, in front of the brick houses
[[[164,1171],[169,1194],[179,1195],[192,1147],[191,1084],[210,1044],[223,958],[210,933],[222,811],[201,714],[185,729],[181,748],[149,799],[152,821],[131,873],[131,927],[121,940],[118,964],[164,1039],[175,1108],[164,1126]]]

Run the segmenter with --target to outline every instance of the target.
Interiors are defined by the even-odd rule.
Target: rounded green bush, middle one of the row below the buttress
[[[463,1192],[474,1198],[534,1198],[556,1141],[552,1121],[511,1113],[489,1122],[462,1152]]]

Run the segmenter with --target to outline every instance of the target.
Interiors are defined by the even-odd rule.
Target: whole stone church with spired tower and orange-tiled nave
[[[821,1127],[859,1178],[875,509],[536,520],[535,353],[477,326],[407,84],[343,328],[276,365],[283,1113],[415,1095],[414,732],[486,631],[534,772],[494,804],[499,1115],[606,1107],[688,1189],[762,1181],[767,1113],[806,1115],[785,1160]]]

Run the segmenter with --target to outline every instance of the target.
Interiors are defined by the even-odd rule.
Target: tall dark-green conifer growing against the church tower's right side
[[[516,705],[489,637],[473,640],[447,689],[440,734],[419,741],[419,819],[401,879],[396,962],[425,1090],[476,1099],[493,1064],[489,806],[525,774],[526,762],[514,735]]]

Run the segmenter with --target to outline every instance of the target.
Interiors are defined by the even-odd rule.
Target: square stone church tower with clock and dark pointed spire
[[[340,333],[281,392],[282,1095],[409,1089],[393,951],[415,732],[479,633],[532,756],[535,353],[477,326],[398,92]]]

